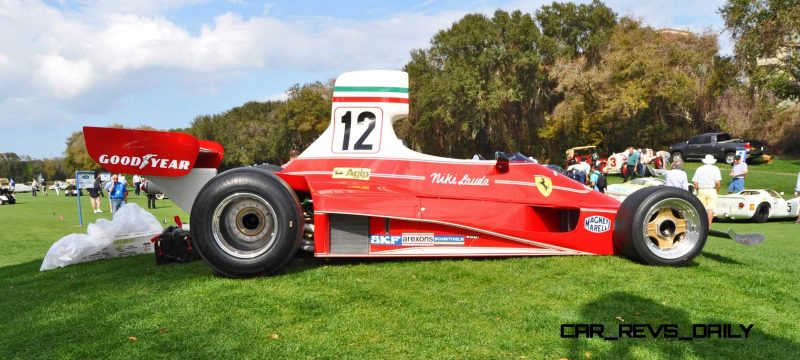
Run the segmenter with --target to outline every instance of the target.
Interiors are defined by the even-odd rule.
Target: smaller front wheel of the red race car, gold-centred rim
[[[614,222],[616,252],[649,265],[686,265],[708,237],[708,217],[690,192],[665,186],[640,189],[622,202]]]

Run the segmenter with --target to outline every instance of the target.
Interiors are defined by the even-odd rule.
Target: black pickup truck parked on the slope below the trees
[[[669,147],[672,161],[699,160],[711,154],[719,161],[733,164],[736,150],[746,149],[748,158],[764,154],[765,144],[759,140],[732,139],[727,133],[705,133],[692,137]]]

